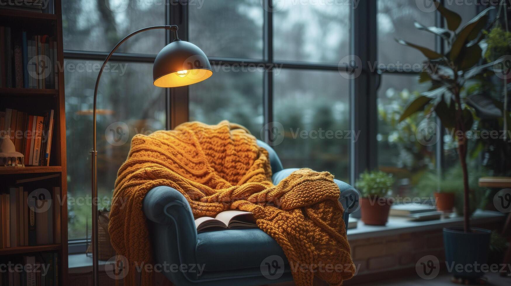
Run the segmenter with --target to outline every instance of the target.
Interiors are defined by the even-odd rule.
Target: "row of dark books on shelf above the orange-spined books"
[[[57,42],[48,35],[0,27],[0,87],[58,87]]]

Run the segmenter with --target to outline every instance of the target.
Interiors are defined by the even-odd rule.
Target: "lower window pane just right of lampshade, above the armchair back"
[[[263,126],[263,71],[213,66],[213,76],[190,85],[190,120],[238,123],[259,138]]]

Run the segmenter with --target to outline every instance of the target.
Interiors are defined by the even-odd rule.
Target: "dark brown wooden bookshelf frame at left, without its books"
[[[17,27],[34,35],[53,36],[57,43],[57,61],[62,64],[64,62],[64,53],[61,0],[54,0],[53,2],[55,14],[0,8],[0,26]],[[49,175],[48,173],[60,174],[52,182],[55,182],[53,186],[60,188],[60,193],[55,193],[54,196],[58,195],[63,200],[62,204],[54,204],[54,207],[60,208],[60,221],[53,222],[54,227],[60,225],[61,243],[2,248],[0,249],[0,260],[4,260],[4,258],[11,255],[28,255],[43,251],[57,252],[59,257],[58,284],[67,285],[67,171],[64,73],[62,70],[58,71],[57,77],[58,86],[56,89],[0,88],[0,106],[2,109],[13,108],[24,112],[35,112],[43,108],[54,110],[50,166],[26,166],[25,168],[0,167],[0,181],[9,184],[9,182],[18,178],[39,177]]]

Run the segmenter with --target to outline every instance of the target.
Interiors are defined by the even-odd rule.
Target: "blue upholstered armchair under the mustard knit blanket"
[[[283,169],[275,151],[268,150],[273,183],[277,184],[293,171]],[[339,201],[344,207],[347,225],[359,193],[349,184],[335,180],[341,190]],[[154,258],[157,264],[172,265],[165,276],[176,285],[261,285],[291,281],[292,275],[284,251],[260,229],[229,229],[197,233],[188,201],[174,188],[158,186],[144,198]],[[268,277],[261,272],[263,260],[271,255],[283,258],[284,273]]]

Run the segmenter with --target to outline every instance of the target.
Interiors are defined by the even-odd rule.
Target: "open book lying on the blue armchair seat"
[[[202,217],[195,220],[197,232],[233,228],[257,228],[253,214],[249,211],[226,210],[215,218]]]

